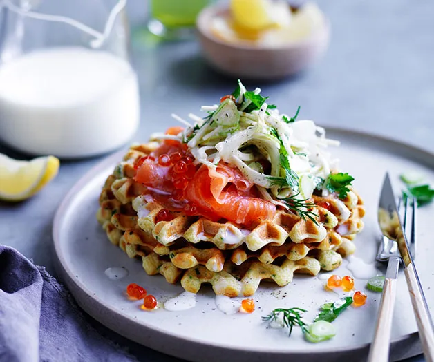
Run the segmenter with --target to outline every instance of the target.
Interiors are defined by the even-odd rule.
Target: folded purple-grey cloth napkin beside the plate
[[[43,267],[0,245],[0,362],[137,361],[88,324]]]

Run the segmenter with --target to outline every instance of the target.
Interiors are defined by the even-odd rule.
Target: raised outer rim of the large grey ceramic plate
[[[330,133],[341,133],[341,134],[346,134],[346,135],[371,138],[371,139],[374,139],[376,141],[382,141],[382,142],[385,142],[388,144],[393,144],[394,146],[399,146],[399,147],[402,146],[406,149],[411,149],[411,151],[413,151],[414,153],[419,153],[419,154],[426,156],[428,158],[428,160],[429,160],[429,158],[433,158],[433,160],[434,160],[434,152],[433,151],[423,149],[423,148],[421,148],[419,146],[415,146],[413,144],[409,144],[408,142],[403,142],[402,140],[398,140],[397,138],[394,138],[394,137],[387,137],[384,135],[376,135],[374,133],[370,133],[370,132],[366,132],[366,131],[359,131],[357,129],[347,128],[347,127],[324,126],[324,128],[325,128],[326,133],[329,133],[329,132]],[[113,309],[113,307],[111,305],[107,305],[99,297],[93,295],[93,292],[91,292],[91,290],[88,289],[86,287],[86,285],[84,285],[79,280],[76,280],[77,278],[75,278],[75,274],[69,269],[68,263],[65,260],[64,256],[62,255],[62,250],[59,246],[59,244],[60,244],[60,241],[59,241],[60,229],[62,226],[62,221],[64,219],[64,215],[68,211],[68,207],[70,206],[70,202],[73,200],[77,191],[79,191],[80,189],[85,187],[86,184],[88,184],[88,181],[91,178],[93,178],[93,175],[95,175],[95,173],[99,173],[100,171],[102,171],[103,169],[108,167],[110,164],[115,164],[115,162],[118,162],[118,160],[122,159],[122,156],[124,155],[125,151],[126,151],[126,148],[122,148],[120,151],[117,151],[111,155],[108,155],[106,158],[104,158],[103,160],[101,160],[100,162],[95,164],[95,166],[93,166],[90,170],[86,171],[86,173],[84,173],[84,175],[82,175],[82,177],[79,178],[79,180],[77,180],[77,182],[75,182],[75,184],[68,191],[68,193],[66,193],[66,196],[64,196],[62,202],[59,204],[59,207],[57,208],[57,210],[55,212],[55,217],[53,220],[52,236],[53,236],[53,249],[55,251],[55,253],[54,253],[55,269],[57,269],[58,276],[62,277],[64,279],[64,282],[68,286],[68,289],[70,290],[71,294],[73,294],[74,298],[76,298],[77,303],[79,304],[80,307],[82,307],[82,309],[84,309],[85,312],[88,312],[93,318],[95,318],[97,321],[100,321],[100,323],[102,323],[106,327],[109,327],[107,325],[107,323],[104,323],[104,321],[102,321],[102,318],[100,318],[99,316],[95,316],[95,315],[91,314],[91,312],[89,312],[89,310],[92,309],[92,307],[87,307],[85,305],[85,303],[82,303],[81,298],[77,298],[77,296],[75,295],[75,292],[76,292],[75,289],[76,288],[79,289],[79,291],[80,291],[80,292],[77,291],[77,294],[84,293],[85,295],[83,296],[83,298],[90,298],[92,303],[97,303],[98,305],[100,305],[101,308],[106,309],[106,311],[104,311],[104,312],[109,311],[111,313],[114,313],[118,318],[119,317],[120,318],[126,318],[129,321],[129,323],[134,323],[137,327],[145,328],[145,329],[149,330],[149,332],[157,332],[158,334],[163,334],[164,336],[170,336],[171,339],[176,339],[180,343],[185,343],[185,342],[196,343],[196,344],[199,344],[202,346],[212,347],[213,349],[216,349],[216,350],[231,350],[232,352],[247,352],[247,353],[252,353],[252,354],[268,354],[268,355],[272,354],[273,356],[282,355],[282,356],[287,357],[287,356],[303,356],[306,354],[310,354],[314,358],[316,356],[318,356],[319,354],[332,355],[332,354],[339,354],[339,353],[344,353],[344,352],[354,352],[357,350],[366,350],[369,347],[370,343],[361,343],[358,345],[352,345],[352,346],[348,346],[348,347],[333,347],[332,350],[330,350],[330,348],[328,348],[328,349],[323,348],[323,349],[310,350],[310,351],[308,351],[308,350],[282,351],[282,350],[274,350],[274,349],[268,350],[266,348],[264,349],[263,347],[257,348],[257,349],[249,347],[248,349],[245,349],[241,346],[223,345],[223,344],[214,343],[214,342],[205,343],[205,342],[199,341],[195,338],[188,338],[188,339],[183,338],[179,334],[176,334],[176,333],[173,333],[173,332],[167,331],[167,330],[162,330],[158,326],[154,327],[154,326],[149,326],[146,323],[140,323],[138,320],[135,320],[135,318],[131,318],[130,316],[120,314],[117,310]],[[430,164],[431,164],[431,168],[434,169],[434,161],[431,163],[429,163],[429,162],[425,163],[426,166],[429,166]],[[124,333],[119,332],[118,330],[114,330],[111,327],[109,327],[109,328],[112,329],[114,332],[119,333],[128,339],[131,339],[132,341],[135,341],[135,342],[140,343],[144,346],[153,348],[151,343],[144,344],[144,343],[142,343],[142,341],[140,339],[133,338],[134,336],[125,335]],[[400,336],[397,339],[393,339],[392,341],[390,341],[390,344],[391,345],[397,345],[398,343],[402,343],[403,341],[406,341],[408,339],[414,339],[415,337],[417,338],[417,331],[410,333],[410,334],[404,334],[403,336]],[[151,339],[149,339],[148,341],[151,341]],[[166,340],[166,343],[169,344],[169,341]],[[155,343],[153,343],[153,345],[155,345]],[[420,350],[420,348],[419,348],[419,350]],[[162,353],[165,353],[165,354],[170,353],[168,350],[159,350],[159,351]],[[182,350],[182,348],[179,351],[186,352],[185,350]],[[176,357],[181,358],[181,359],[184,359],[185,353],[181,354],[178,352],[173,353],[171,355],[176,356]],[[422,353],[422,350],[420,350],[419,353]],[[415,355],[415,354],[413,354],[413,355]],[[203,355],[202,355],[202,357],[203,357]],[[406,357],[409,357],[409,356],[406,356]],[[200,360],[197,360],[197,361],[200,361]]]

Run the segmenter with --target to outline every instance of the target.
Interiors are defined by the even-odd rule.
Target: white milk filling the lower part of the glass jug
[[[15,149],[96,155],[127,142],[138,121],[137,76],[111,53],[49,48],[0,65],[0,138]]]

